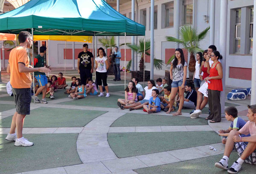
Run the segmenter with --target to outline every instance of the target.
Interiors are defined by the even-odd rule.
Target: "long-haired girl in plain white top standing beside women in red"
[[[203,54],[201,52],[198,52],[196,54],[196,63],[195,63],[195,72],[194,72],[194,76],[193,76],[193,81],[194,81],[194,86],[195,86],[195,90],[198,91],[198,89],[200,88],[201,82],[202,82],[202,77],[199,77],[200,75],[200,68],[201,68],[201,63],[203,62]],[[203,73],[201,73],[201,75],[203,75]]]

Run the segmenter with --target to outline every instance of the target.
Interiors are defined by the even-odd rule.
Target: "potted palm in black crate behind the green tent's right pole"
[[[131,48],[131,50],[134,51],[136,54],[140,55],[140,64],[139,64],[140,71],[131,71],[131,78],[137,77],[139,79],[139,81],[143,81],[143,77],[145,77],[145,80],[150,80],[150,71],[145,71],[145,75],[144,75],[144,68],[145,68],[144,67],[144,59],[145,59],[144,40],[140,39],[138,45],[129,44],[128,47]],[[145,40],[145,54],[146,55],[150,55],[149,50],[150,50],[150,40]],[[164,64],[163,60],[154,58],[154,68],[156,68],[157,70],[161,70],[163,67],[163,64]],[[127,69],[131,68],[131,60],[127,64],[126,68]]]

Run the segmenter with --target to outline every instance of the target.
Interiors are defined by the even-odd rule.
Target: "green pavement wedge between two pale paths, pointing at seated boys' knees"
[[[119,158],[220,142],[215,131],[108,133],[108,143]]]

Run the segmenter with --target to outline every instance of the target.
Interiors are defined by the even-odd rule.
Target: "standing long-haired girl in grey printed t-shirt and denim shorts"
[[[181,109],[184,103],[184,90],[186,85],[186,71],[188,64],[185,61],[184,54],[182,49],[175,49],[175,58],[172,60],[172,65],[170,68],[170,77],[172,79],[172,91],[171,91],[171,100],[169,110],[167,114],[171,111],[174,111],[173,103],[175,102],[175,96],[179,90],[180,105],[176,113],[172,114],[173,116],[181,115]]]

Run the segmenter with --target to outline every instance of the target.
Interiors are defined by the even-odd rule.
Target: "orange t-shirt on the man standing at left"
[[[10,82],[12,88],[30,88],[32,79],[29,72],[19,71],[18,64],[22,63],[26,67],[29,67],[29,57],[27,55],[26,49],[22,46],[18,46],[10,52],[9,56],[9,66],[11,71]]]

